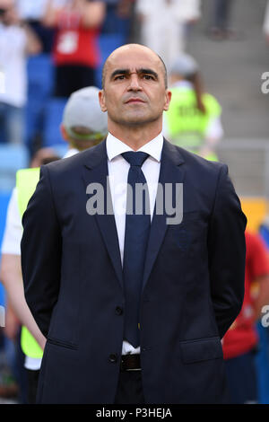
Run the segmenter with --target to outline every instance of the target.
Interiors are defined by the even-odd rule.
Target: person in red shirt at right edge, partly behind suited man
[[[261,236],[246,231],[244,303],[237,319],[222,339],[230,401],[256,403],[255,352],[258,345],[256,321],[269,303],[269,259]]]

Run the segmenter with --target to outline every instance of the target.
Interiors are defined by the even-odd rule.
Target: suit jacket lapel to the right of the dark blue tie
[[[171,183],[175,186],[176,183],[183,183],[184,180],[184,166],[180,164],[184,163],[181,154],[174,145],[170,144],[164,139],[162,153],[161,153],[161,169],[159,177],[159,185],[163,188],[164,192],[165,183]],[[159,188],[160,193],[160,188]],[[157,193],[158,195],[158,193]],[[161,198],[163,196],[161,195]],[[158,252],[161,248],[165,233],[168,228],[167,218],[170,216],[167,213],[164,198],[163,198],[163,213],[158,215],[156,213],[156,206],[152,217],[152,227],[150,238],[148,242],[148,248],[145,259],[144,273],[143,273],[143,288],[150,277],[152,267],[155,259],[157,258]]]

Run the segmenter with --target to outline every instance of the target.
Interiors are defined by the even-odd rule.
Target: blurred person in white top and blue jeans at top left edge
[[[0,0],[0,142],[23,142],[26,58],[40,50],[39,39],[20,21],[14,0]]]

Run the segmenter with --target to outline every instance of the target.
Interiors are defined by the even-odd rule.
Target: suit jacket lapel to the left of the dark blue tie
[[[107,215],[107,209],[112,210],[111,192],[107,185],[108,177],[108,158],[106,150],[106,141],[89,150],[87,160],[83,167],[83,180],[85,189],[91,183],[99,183],[104,192],[104,215],[95,214],[97,224],[100,227],[100,233],[108,250],[108,255],[117,274],[121,286],[123,286],[122,266],[117,239],[117,227],[114,214]]]

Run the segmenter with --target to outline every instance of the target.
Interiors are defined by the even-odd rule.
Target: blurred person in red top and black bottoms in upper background
[[[95,84],[100,63],[98,37],[105,13],[101,0],[48,0],[42,22],[56,29],[52,51],[56,97],[69,97]]]

